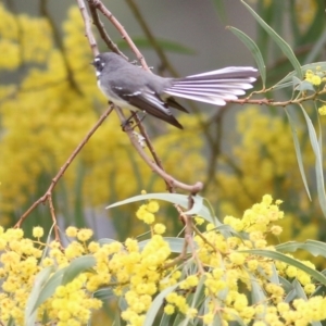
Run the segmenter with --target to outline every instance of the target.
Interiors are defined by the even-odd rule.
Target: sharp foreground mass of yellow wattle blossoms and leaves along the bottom
[[[155,318],[165,325],[236,321],[255,326],[324,319],[326,301],[317,293],[326,277],[311,262],[281,251],[302,248],[325,255],[325,244],[268,244],[267,235],[283,230],[280,203],[266,195],[241,218],[226,216],[217,227],[208,222],[217,223],[214,215],[197,215],[193,221],[203,231],[195,236],[196,251],[183,259],[175,254],[181,254],[187,239],[163,237],[166,227],[155,222],[155,200],[136,213],[150,226],[146,241],[95,241],[90,229],[68,227],[68,244],[60,248],[57,241],[40,241],[41,227],[34,228],[34,240],[24,238],[22,229],[1,228],[0,319],[84,325],[102,301],[113,298],[120,302],[122,319],[135,326],[152,325]]]

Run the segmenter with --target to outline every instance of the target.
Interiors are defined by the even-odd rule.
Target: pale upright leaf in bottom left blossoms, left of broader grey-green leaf
[[[40,305],[39,298],[41,297],[42,289],[49,279],[49,276],[53,272],[53,266],[48,266],[41,269],[35,277],[32,292],[27,299],[26,309],[25,309],[25,325],[35,325],[36,324],[36,310]]]

